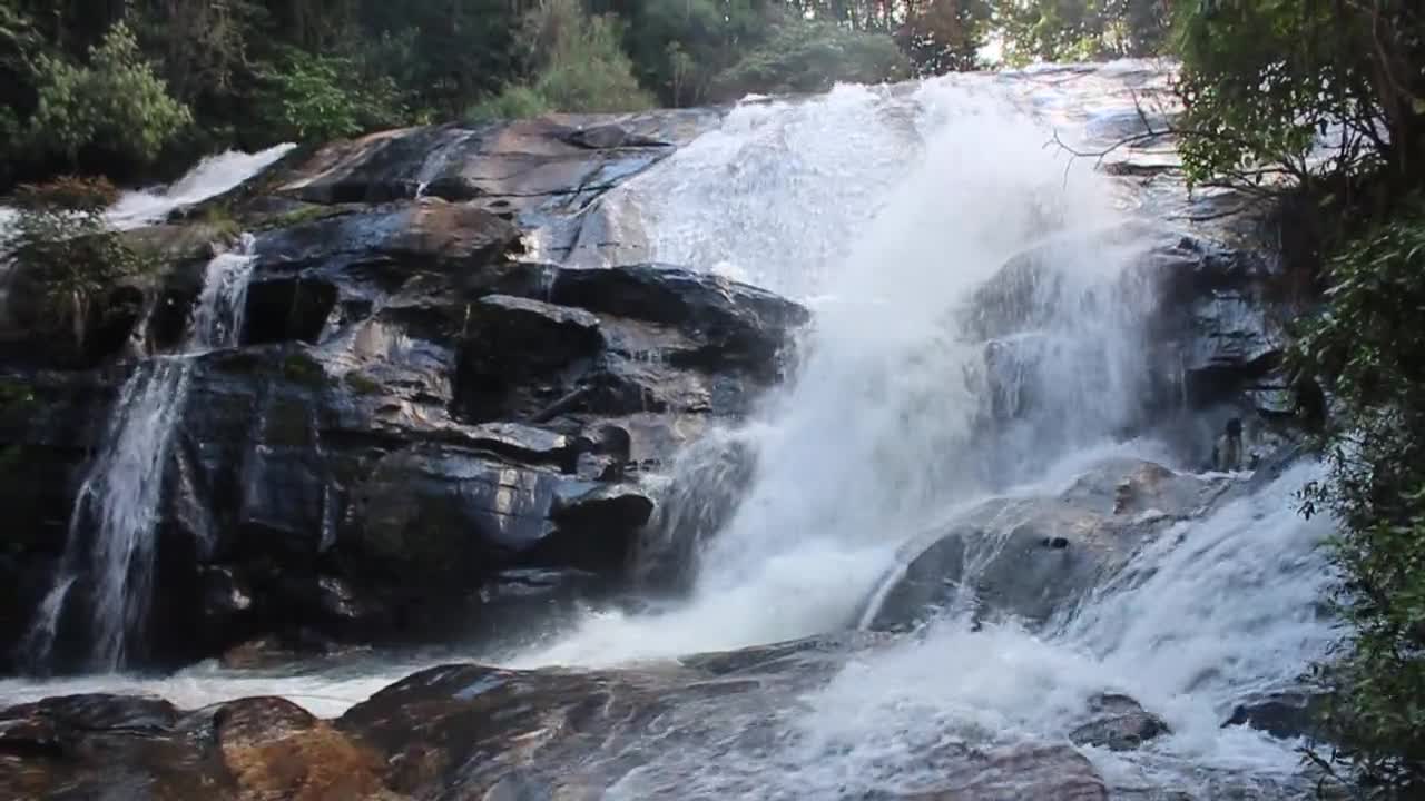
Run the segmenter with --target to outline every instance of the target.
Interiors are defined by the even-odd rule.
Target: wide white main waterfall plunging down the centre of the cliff
[[[817,318],[795,379],[752,423],[755,477],[704,533],[693,599],[591,616],[527,664],[854,623],[909,536],[1139,422],[1151,292],[1130,268],[1149,242],[1109,178],[1050,135],[980,76],[838,87],[738,107],[610,198],[646,221],[651,258],[748,275]],[[1012,332],[986,331],[996,286]]]

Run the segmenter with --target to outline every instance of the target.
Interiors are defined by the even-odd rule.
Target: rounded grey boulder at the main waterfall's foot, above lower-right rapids
[[[1057,497],[988,500],[903,546],[862,623],[901,630],[950,610],[1042,626],[1224,490],[1223,482],[1114,459]]]

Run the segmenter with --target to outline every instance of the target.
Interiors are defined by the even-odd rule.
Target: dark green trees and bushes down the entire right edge
[[[1425,794],[1425,9],[1216,0],[1181,10],[1190,178],[1305,210],[1318,308],[1288,366],[1332,399],[1304,510],[1341,529],[1348,624],[1318,666],[1312,757],[1372,798]],[[1300,234],[1294,231],[1292,234]]]

